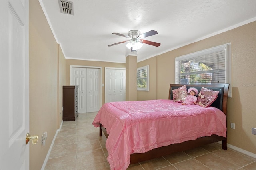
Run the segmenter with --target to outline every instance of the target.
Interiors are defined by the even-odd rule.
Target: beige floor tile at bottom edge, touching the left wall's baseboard
[[[48,159],[44,170],[76,170],[76,154]]]

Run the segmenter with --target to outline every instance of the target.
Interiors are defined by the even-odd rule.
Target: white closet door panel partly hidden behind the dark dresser
[[[85,113],[86,68],[72,67],[72,85],[78,85],[78,113]]]

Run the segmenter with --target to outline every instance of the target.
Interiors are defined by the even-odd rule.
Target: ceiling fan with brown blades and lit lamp
[[[153,45],[155,47],[159,47],[161,45],[160,43],[156,43],[156,42],[152,42],[152,41],[142,39],[142,38],[145,38],[145,37],[148,37],[148,36],[153,36],[155,34],[158,34],[158,32],[155,31],[155,30],[145,32],[143,34],[140,34],[140,31],[138,31],[138,30],[130,30],[128,32],[128,36],[126,36],[124,34],[117,33],[117,32],[113,32],[112,34],[116,34],[118,36],[126,37],[129,40],[118,42],[118,43],[113,43],[111,45],[108,45],[108,47],[111,47],[113,45],[117,45],[117,44],[120,44],[120,43],[129,42],[129,43],[126,44],[126,47],[131,49],[131,51],[133,52],[133,51],[136,51],[137,49],[140,49],[142,47],[143,43],[146,43],[148,45]]]

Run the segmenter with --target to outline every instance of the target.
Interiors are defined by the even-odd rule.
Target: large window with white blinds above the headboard
[[[231,97],[231,43],[175,58],[175,83],[229,83]]]

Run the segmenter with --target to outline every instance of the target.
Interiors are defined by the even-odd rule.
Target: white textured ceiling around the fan
[[[58,0],[39,0],[56,41],[67,59],[125,63],[138,61],[214,36],[256,20],[256,0],[70,0],[74,15],[60,12]],[[130,30],[158,34],[144,38],[161,43],[144,44],[131,52]],[[220,44],[222,45],[222,44]]]

